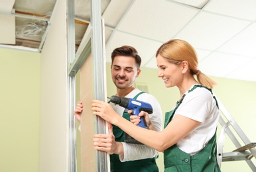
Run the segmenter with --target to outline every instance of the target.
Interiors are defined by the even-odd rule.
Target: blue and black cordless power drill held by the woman
[[[111,96],[109,98],[111,103],[115,103],[119,105],[120,107],[127,108],[128,110],[133,110],[134,115],[139,115],[139,112],[145,111],[148,114],[153,113],[153,107],[149,103],[145,103],[143,101],[138,101],[135,99],[127,98],[127,97],[118,97],[118,96]],[[147,124],[145,122],[145,118],[142,117],[141,121],[139,122],[138,126],[142,128],[147,128]],[[137,140],[131,138],[128,134],[125,134],[125,142],[131,143],[131,144],[141,144],[141,142],[138,142]]]

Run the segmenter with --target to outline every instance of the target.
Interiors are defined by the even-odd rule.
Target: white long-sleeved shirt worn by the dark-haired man
[[[127,98],[133,98],[141,91],[139,89],[134,89],[126,95]],[[150,95],[148,93],[143,93],[137,97],[138,101],[143,101],[146,103],[151,104],[153,107],[153,114],[149,114],[149,118],[151,118],[151,122],[154,124],[155,128],[157,128],[158,131],[162,130],[162,110],[160,108],[159,102],[153,95]],[[109,103],[115,112],[119,114],[120,116],[123,116],[123,112],[125,108],[120,107],[119,105],[115,105],[113,103]],[[125,142],[122,142],[123,144],[123,153],[124,157],[121,159],[121,156],[119,156],[120,161],[133,161],[137,159],[146,159],[146,158],[152,158],[156,157],[158,155],[158,151],[154,150],[153,148],[150,148],[149,146],[145,146],[142,144],[127,144]]]

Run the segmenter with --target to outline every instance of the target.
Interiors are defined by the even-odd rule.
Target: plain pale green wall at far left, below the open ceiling
[[[0,171],[38,171],[40,57],[0,48]]]

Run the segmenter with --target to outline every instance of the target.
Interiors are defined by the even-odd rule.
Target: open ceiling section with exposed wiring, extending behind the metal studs
[[[102,13],[110,0],[102,1]],[[0,0],[0,44],[42,50],[56,0]],[[90,0],[75,0],[76,48],[90,24]]]

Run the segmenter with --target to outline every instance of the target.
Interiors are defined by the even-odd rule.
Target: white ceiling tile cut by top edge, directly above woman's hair
[[[134,1],[129,13],[121,20],[117,29],[166,42],[196,13],[198,9],[169,1],[148,0],[147,3]]]

